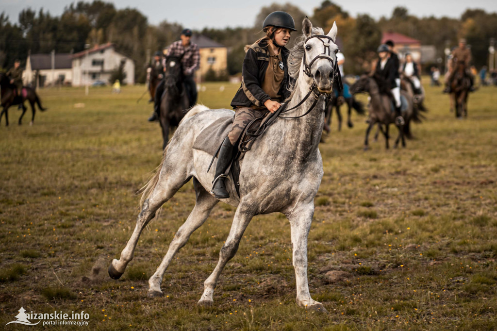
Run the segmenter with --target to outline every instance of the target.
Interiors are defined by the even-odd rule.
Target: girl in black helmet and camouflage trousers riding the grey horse
[[[219,150],[213,193],[218,199],[228,198],[223,174],[230,165],[240,136],[247,124],[268,111],[278,110],[280,102],[290,96],[288,90],[288,49],[290,33],[297,31],[292,16],[274,11],[264,20],[266,36],[253,43],[245,55],[242,84],[231,101],[235,109],[233,126]]]

